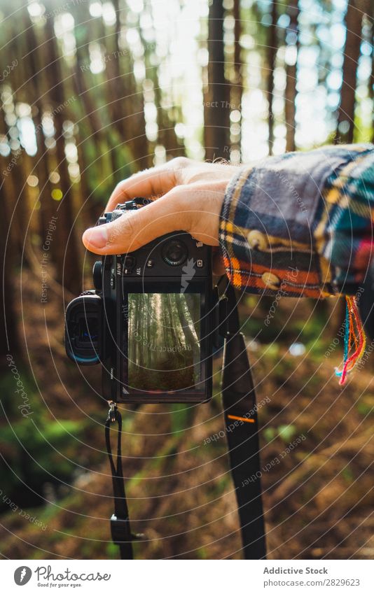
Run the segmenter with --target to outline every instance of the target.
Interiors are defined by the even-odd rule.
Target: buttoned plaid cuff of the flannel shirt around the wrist
[[[328,180],[362,150],[328,146],[238,169],[226,188],[219,228],[226,273],[236,288],[288,297],[340,294],[326,241],[321,246],[319,239],[326,240],[324,194]]]

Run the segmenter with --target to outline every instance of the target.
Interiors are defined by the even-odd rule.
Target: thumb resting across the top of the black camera
[[[87,229],[82,241],[95,254],[121,254],[137,250],[156,237],[172,231],[188,231],[191,215],[183,212],[180,190],[170,190],[137,211]]]

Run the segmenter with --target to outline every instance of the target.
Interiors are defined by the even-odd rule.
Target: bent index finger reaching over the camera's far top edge
[[[120,181],[113,190],[106,212],[113,211],[117,204],[132,198],[156,197],[164,195],[176,185],[175,171],[172,167],[152,167],[139,171],[130,178]]]

